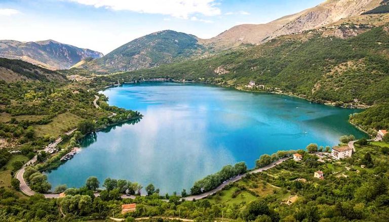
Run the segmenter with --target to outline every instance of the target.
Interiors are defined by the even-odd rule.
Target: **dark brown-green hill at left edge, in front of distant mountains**
[[[18,59],[0,58],[0,80],[62,82],[66,78],[60,73]]]

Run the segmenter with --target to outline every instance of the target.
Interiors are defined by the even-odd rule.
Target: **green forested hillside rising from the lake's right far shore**
[[[253,80],[319,102],[358,99],[372,105],[389,97],[384,93],[389,87],[388,46],[387,27],[373,28],[349,39],[312,32],[122,76],[205,80],[230,86],[247,85]]]

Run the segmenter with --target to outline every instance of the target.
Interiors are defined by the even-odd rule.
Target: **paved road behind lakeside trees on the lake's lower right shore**
[[[291,158],[292,158],[292,157],[285,157],[285,158],[282,158],[282,159],[280,159],[280,160],[278,160],[278,161],[276,161],[276,162],[274,162],[274,163],[271,163],[271,164],[269,164],[269,165],[267,165],[267,166],[261,167],[261,168],[259,168],[259,169],[256,169],[256,170],[253,170],[253,171],[250,171],[250,172],[247,172],[247,173],[245,173],[245,174],[243,174],[243,175],[236,176],[236,177],[234,177],[234,178],[232,178],[232,179],[226,181],[225,183],[220,184],[219,187],[215,188],[215,189],[212,190],[212,191],[208,191],[208,192],[206,192],[206,193],[199,194],[199,195],[195,195],[195,196],[184,197],[184,198],[181,198],[181,199],[187,200],[187,201],[188,201],[188,200],[193,200],[193,199],[199,200],[199,199],[206,198],[206,197],[208,197],[208,196],[210,196],[210,195],[215,194],[215,193],[218,192],[218,191],[221,191],[221,190],[222,190],[225,186],[227,186],[228,184],[233,183],[233,182],[236,182],[236,181],[238,181],[238,180],[241,180],[242,177],[245,176],[245,175],[247,175],[247,174],[259,173],[259,172],[262,172],[262,171],[271,169],[271,168],[273,168],[273,167],[275,167],[275,166],[281,164],[282,162],[284,162],[284,161],[286,161],[286,160],[289,160],[289,159],[291,159]]]

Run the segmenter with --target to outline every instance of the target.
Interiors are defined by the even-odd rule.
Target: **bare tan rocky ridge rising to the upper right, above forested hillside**
[[[266,24],[234,26],[216,37],[202,42],[213,50],[260,44],[280,35],[300,33],[334,23],[340,19],[361,15],[379,6],[382,0],[327,0],[317,7],[288,15]]]

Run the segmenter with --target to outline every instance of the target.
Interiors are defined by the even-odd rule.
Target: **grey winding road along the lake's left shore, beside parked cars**
[[[74,128],[72,130],[67,131],[65,134],[66,135],[71,135],[77,128]],[[62,137],[58,137],[54,142],[50,143],[48,146],[45,147],[43,151],[48,152],[50,149],[56,147],[60,142],[62,141]],[[29,160],[27,163],[23,165],[23,167],[16,172],[16,178],[20,181],[20,191],[23,192],[27,196],[32,196],[35,194],[34,191],[30,189],[30,187],[27,186],[26,181],[23,178],[24,171],[26,169],[26,166],[31,165],[36,162],[36,155]],[[50,195],[50,194],[48,194]],[[46,195],[45,195],[46,197]]]

